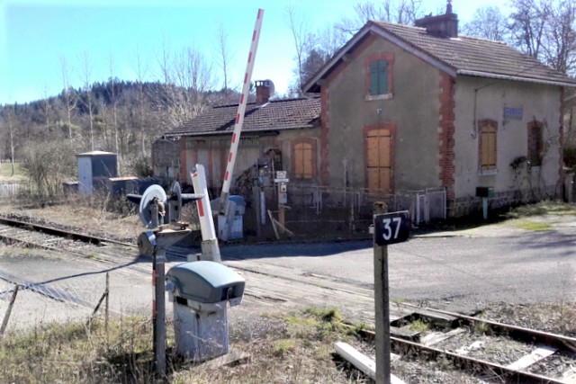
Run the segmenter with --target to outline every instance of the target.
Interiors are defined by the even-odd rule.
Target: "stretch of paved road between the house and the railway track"
[[[490,302],[573,299],[576,222],[571,218],[551,222],[550,231],[516,229],[508,223],[389,246],[391,299],[466,311]],[[374,287],[370,241],[230,246],[221,253],[224,260],[258,261],[302,275]]]

